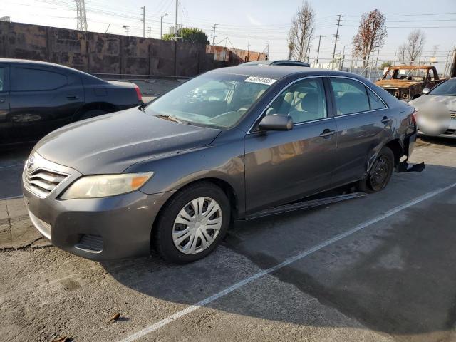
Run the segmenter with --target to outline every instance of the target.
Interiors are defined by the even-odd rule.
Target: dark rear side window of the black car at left
[[[31,68],[14,68],[11,90],[13,91],[34,91],[53,90],[66,86],[66,76],[52,71],[44,71]]]

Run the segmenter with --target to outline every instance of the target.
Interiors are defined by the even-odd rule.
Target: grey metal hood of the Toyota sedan
[[[135,162],[209,145],[219,133],[130,108],[59,128],[34,150],[83,175],[120,173]]]

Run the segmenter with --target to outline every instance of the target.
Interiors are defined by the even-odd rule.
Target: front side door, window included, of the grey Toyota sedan
[[[245,137],[247,213],[291,202],[331,185],[336,123],[323,79],[294,81],[264,110],[290,115],[288,131],[255,130]]]

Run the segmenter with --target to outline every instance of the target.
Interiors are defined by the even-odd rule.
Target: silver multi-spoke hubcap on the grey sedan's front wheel
[[[222,227],[222,209],[215,199],[198,197],[185,204],[172,226],[172,241],[180,252],[197,254],[207,249]]]

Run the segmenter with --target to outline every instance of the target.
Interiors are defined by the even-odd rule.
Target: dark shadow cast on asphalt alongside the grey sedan
[[[385,191],[366,198],[237,224],[222,247],[192,264],[144,257],[102,265],[131,289],[192,305],[347,231],[353,223],[346,225],[346,220],[364,215],[361,222],[366,222],[375,216],[371,212],[383,214],[449,185],[456,174],[455,167],[429,169],[431,184],[421,187],[418,174],[400,174]],[[415,191],[411,198],[405,198],[408,189]],[[456,324],[455,204],[452,188],[207,306],[302,326],[366,327],[397,341],[451,339]]]

